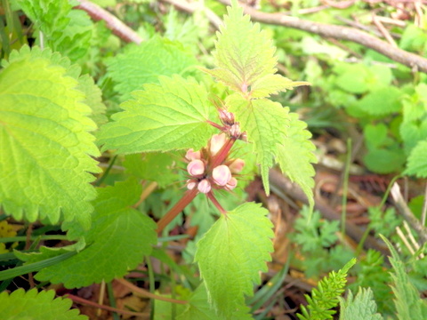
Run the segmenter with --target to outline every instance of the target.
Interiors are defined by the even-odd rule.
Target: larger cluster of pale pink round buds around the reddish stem
[[[232,190],[237,187],[238,180],[233,174],[241,172],[245,166],[242,159],[227,159],[221,164],[214,164],[215,156],[227,143],[228,137],[225,133],[215,134],[207,148],[194,151],[192,148],[187,151],[185,158],[189,161],[187,172],[190,179],[187,180],[187,188],[192,190],[197,188],[201,193],[209,193],[213,188]]]

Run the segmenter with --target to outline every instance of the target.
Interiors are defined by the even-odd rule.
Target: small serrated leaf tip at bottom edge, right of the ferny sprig
[[[340,320],[383,320],[383,316],[376,313],[376,303],[374,293],[371,288],[359,287],[359,292],[353,298],[353,293],[349,291],[347,299],[340,300]]]

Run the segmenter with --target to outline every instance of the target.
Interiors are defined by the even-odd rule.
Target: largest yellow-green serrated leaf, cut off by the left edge
[[[50,59],[52,57],[52,60]],[[96,125],[77,80],[59,54],[23,47],[0,74],[0,204],[20,220],[48,218],[90,225],[90,182],[100,156],[88,133]],[[78,73],[78,69],[77,69]]]

